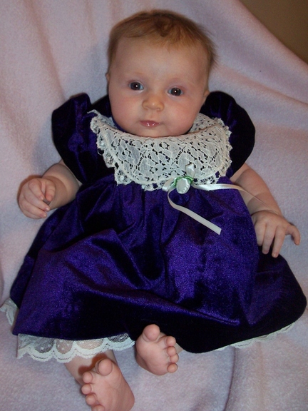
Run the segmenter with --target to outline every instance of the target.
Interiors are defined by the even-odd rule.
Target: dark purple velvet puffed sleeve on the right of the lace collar
[[[232,164],[227,171],[227,176],[231,177],[252,152],[255,145],[255,126],[244,108],[240,107],[233,97],[221,91],[214,91],[207,96],[201,113],[210,118],[221,118],[231,131]]]

